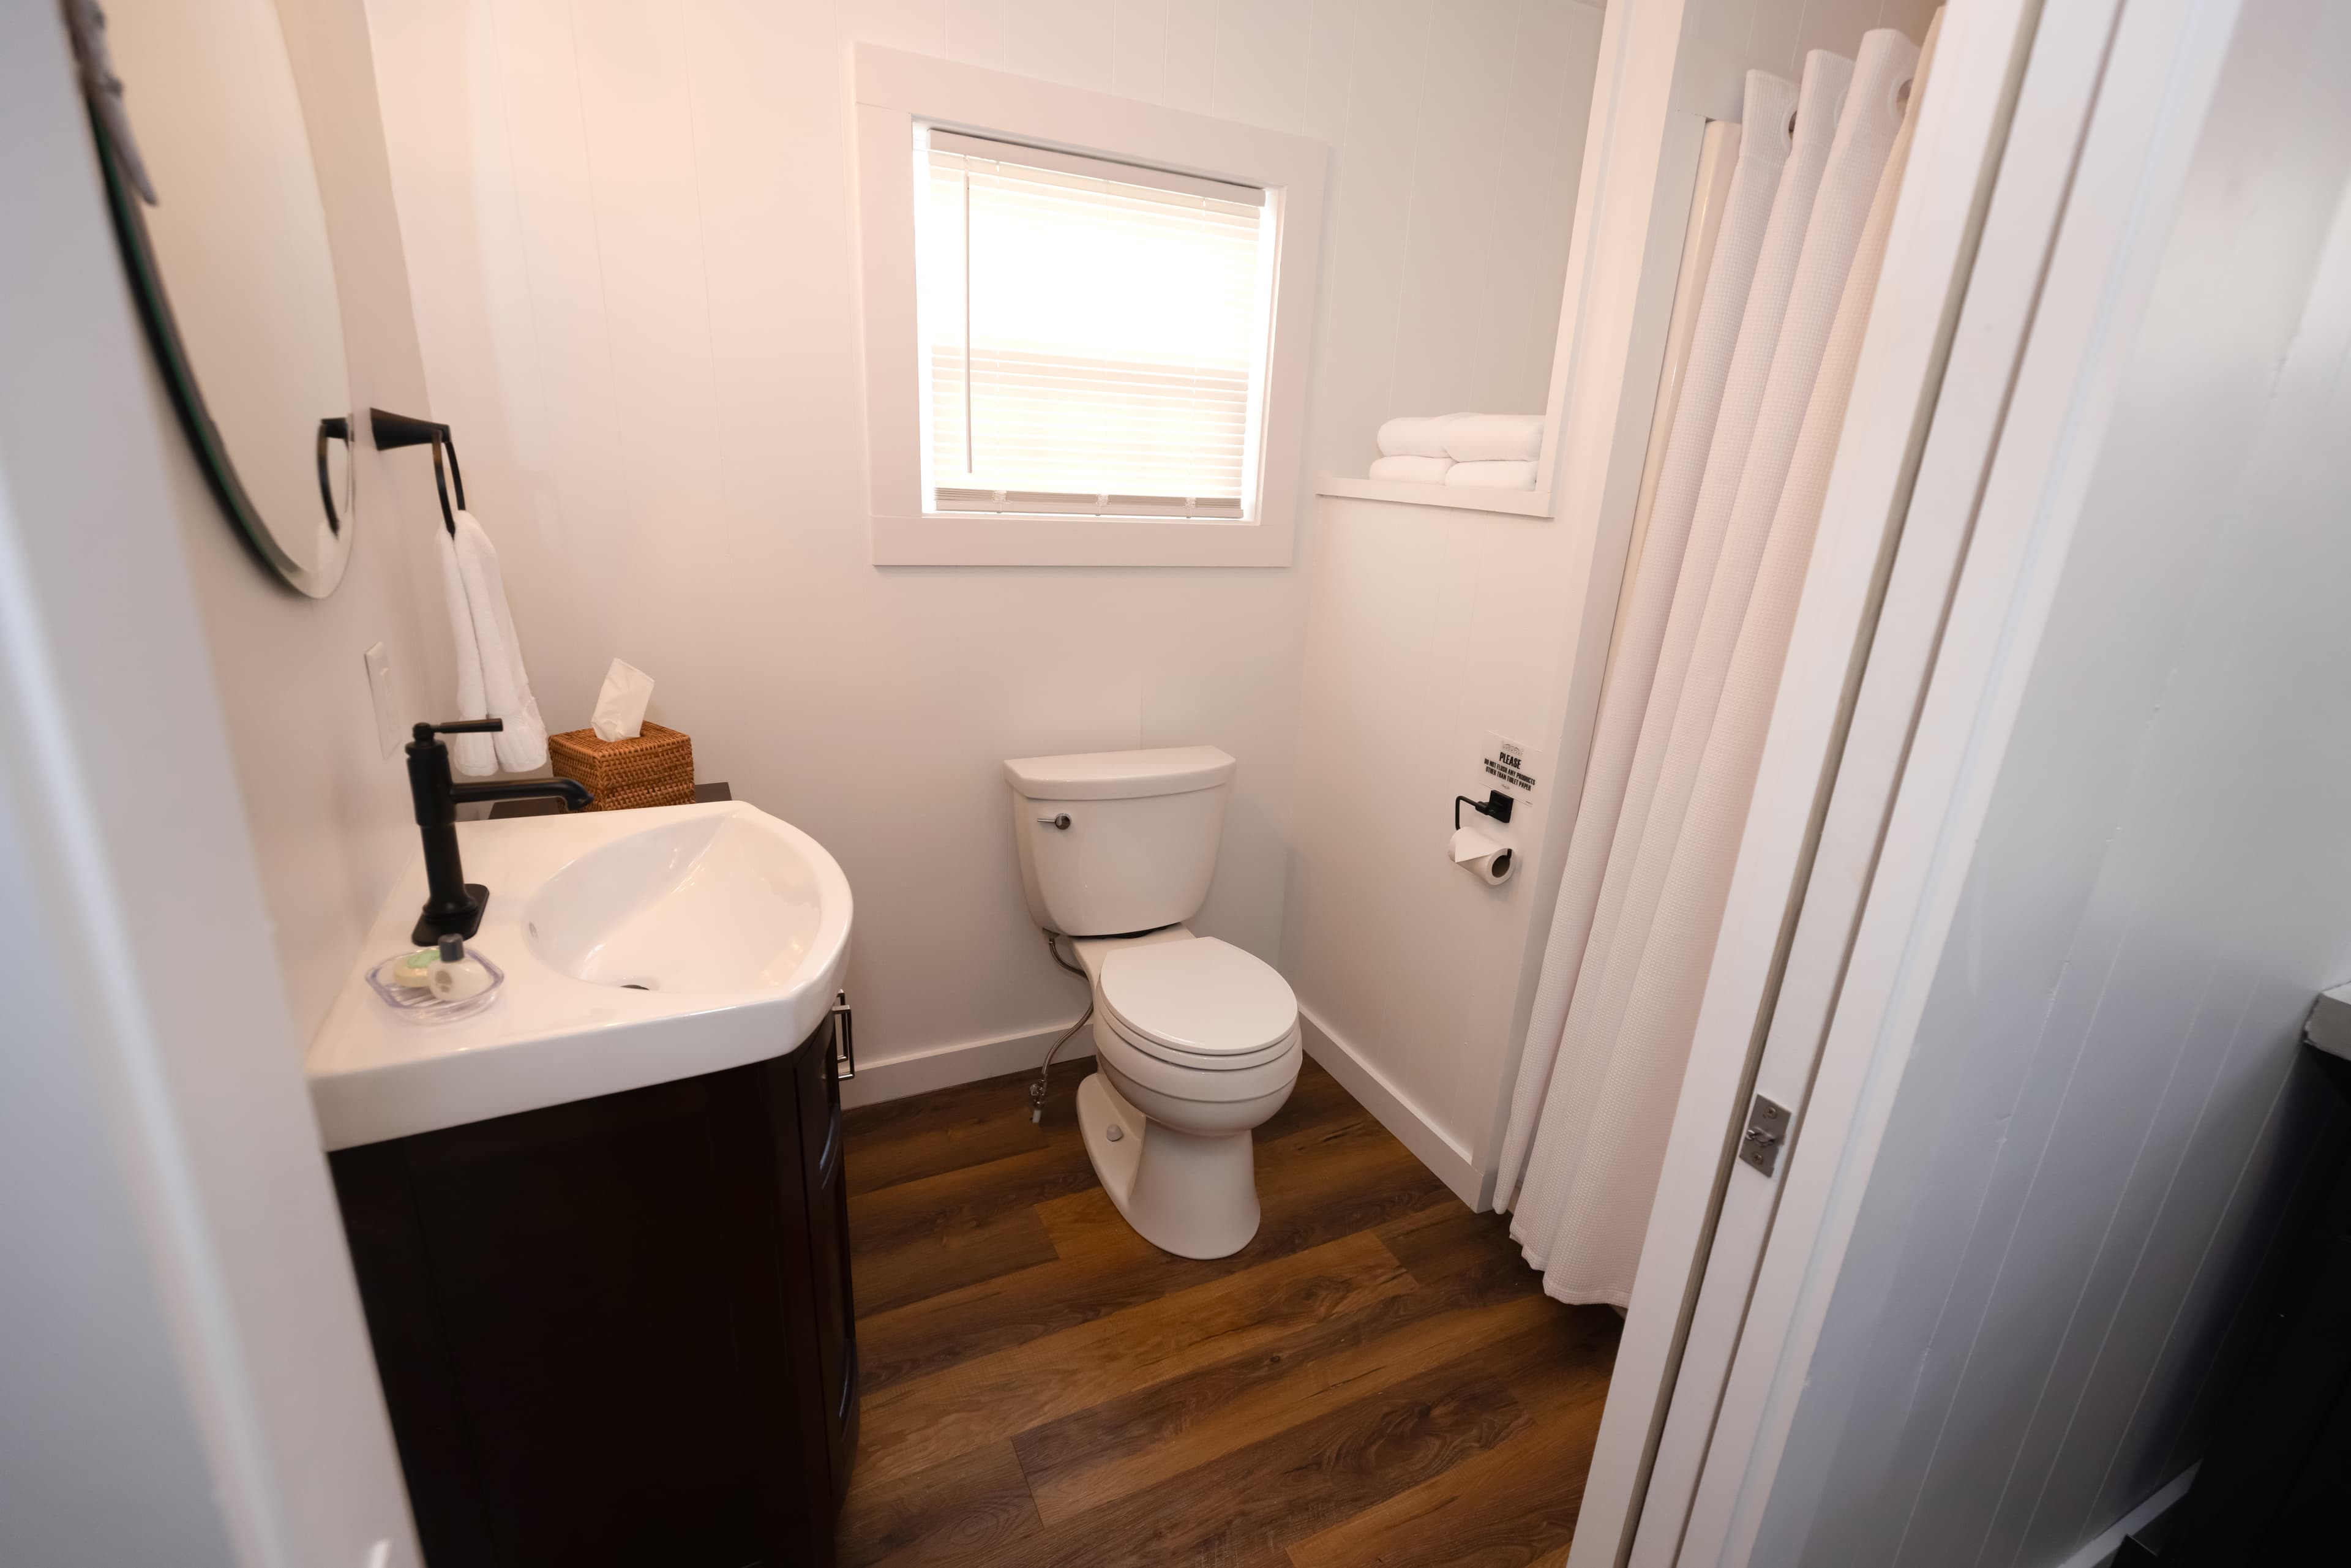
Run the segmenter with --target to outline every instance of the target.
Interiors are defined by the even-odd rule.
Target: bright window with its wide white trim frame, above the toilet
[[[872,559],[1288,562],[1326,150],[856,66]]]

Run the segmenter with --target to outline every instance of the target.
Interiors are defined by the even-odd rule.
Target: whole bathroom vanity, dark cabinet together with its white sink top
[[[491,1006],[306,1053],[433,1568],[832,1563],[849,884],[743,802],[458,823]],[[423,867],[369,954],[397,952]]]

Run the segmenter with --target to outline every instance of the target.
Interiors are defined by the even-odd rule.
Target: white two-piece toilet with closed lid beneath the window
[[[1004,764],[1030,914],[1093,985],[1086,1157],[1136,1232],[1180,1258],[1258,1234],[1251,1133],[1298,1081],[1298,997],[1185,922],[1208,900],[1234,762],[1213,745]]]

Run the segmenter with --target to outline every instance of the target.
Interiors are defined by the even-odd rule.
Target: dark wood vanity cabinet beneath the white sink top
[[[830,1020],[329,1159],[430,1568],[832,1563],[858,1347]]]

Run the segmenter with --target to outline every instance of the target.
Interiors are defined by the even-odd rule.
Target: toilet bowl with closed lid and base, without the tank
[[[1258,1234],[1253,1133],[1291,1098],[1298,999],[1262,959],[1183,926],[1074,943],[1098,1072],[1077,1088],[1086,1154],[1136,1232],[1178,1258]]]

